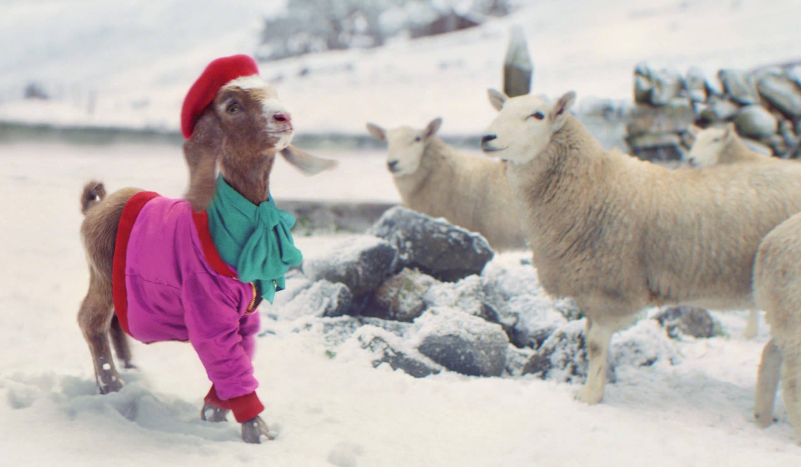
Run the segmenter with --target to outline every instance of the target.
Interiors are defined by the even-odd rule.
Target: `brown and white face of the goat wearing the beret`
[[[275,88],[258,75],[227,83],[213,105],[223,129],[223,146],[274,153],[292,143],[292,117]]]

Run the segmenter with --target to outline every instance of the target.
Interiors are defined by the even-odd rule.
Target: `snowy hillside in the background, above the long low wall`
[[[183,94],[203,66],[256,50],[262,18],[284,2],[2,3],[0,119],[175,131]],[[534,88],[630,99],[634,65],[648,60],[708,74],[801,57],[795,0],[529,0],[517,13],[376,49],[261,64],[301,132],[363,133],[364,123],[474,134],[493,117],[486,87],[500,85],[509,27],[523,26]],[[54,96],[22,100],[27,83]]]

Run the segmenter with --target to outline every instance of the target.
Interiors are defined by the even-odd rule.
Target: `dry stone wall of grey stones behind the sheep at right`
[[[729,122],[755,151],[799,157],[801,65],[723,69],[707,79],[695,67],[682,75],[640,64],[634,69],[634,102],[626,143],[642,159],[681,159],[693,143],[690,125]]]

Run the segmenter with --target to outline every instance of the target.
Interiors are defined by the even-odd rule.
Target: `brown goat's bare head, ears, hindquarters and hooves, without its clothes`
[[[292,123],[276,99],[276,92],[258,77],[236,79],[219,89],[203,111],[191,138],[183,145],[190,172],[186,199],[195,211],[203,211],[211,200],[217,168],[227,183],[254,204],[268,199],[269,178],[276,152],[313,175],[336,165],[289,145]],[[91,181],[83,188],[81,209],[86,215],[81,227],[89,263],[90,284],[78,312],[78,324],[89,344],[100,393],[119,391],[123,381],[115,368],[109,334],[125,368],[132,368],[131,351],[113,311],[112,264],[123,207],[139,188],[123,188],[105,195],[103,183]],[[223,421],[227,410],[205,406],[201,417],[212,410],[211,421]],[[268,436],[260,417],[242,424],[242,437],[260,442]]]

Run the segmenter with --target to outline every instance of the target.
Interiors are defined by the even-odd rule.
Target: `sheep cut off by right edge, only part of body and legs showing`
[[[757,376],[754,412],[760,426],[773,421],[779,376],[782,398],[801,443],[801,214],[765,236],[754,265],[754,296],[771,325]]]

